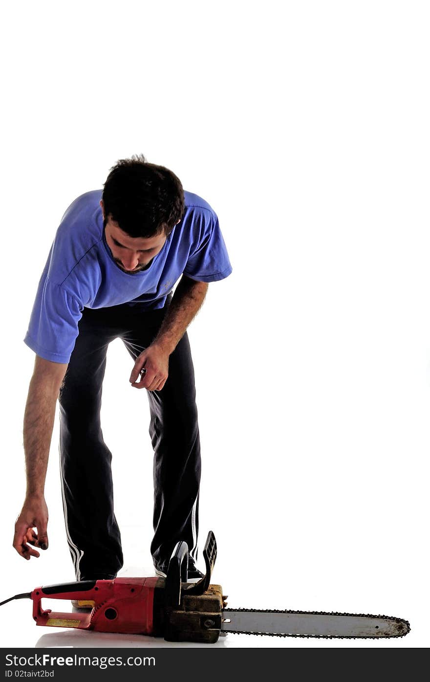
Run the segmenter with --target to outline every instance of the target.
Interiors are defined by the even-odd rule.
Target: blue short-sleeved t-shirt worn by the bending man
[[[102,190],[86,192],[65,211],[40,279],[25,343],[37,355],[67,363],[83,308],[120,303],[162,308],[182,274],[200,282],[232,271],[218,218],[204,199],[185,192],[185,213],[147,269],[123,272],[106,243]]]

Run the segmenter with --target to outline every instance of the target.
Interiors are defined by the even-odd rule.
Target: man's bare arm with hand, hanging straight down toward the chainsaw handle
[[[55,407],[67,364],[36,355],[24,415],[27,492],[15,524],[14,548],[25,559],[39,557],[31,546],[48,548],[48,507],[44,488]],[[33,529],[36,529],[36,533]]]

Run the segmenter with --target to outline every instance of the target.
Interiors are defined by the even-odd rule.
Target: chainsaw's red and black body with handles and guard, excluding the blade
[[[220,585],[211,585],[217,544],[212,531],[203,550],[206,574],[188,582],[188,548],[178,542],[166,578],[114,578],[80,580],[36,587],[33,619],[37,625],[76,627],[97,632],[121,632],[164,637],[169,642],[216,642],[225,606]],[[42,599],[62,599],[90,604],[89,610],[68,612],[42,608]]]

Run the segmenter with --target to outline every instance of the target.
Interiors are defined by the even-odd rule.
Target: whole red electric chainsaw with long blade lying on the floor
[[[166,578],[114,578],[82,580],[37,587],[0,602],[28,597],[33,600],[36,625],[76,627],[97,632],[117,632],[164,637],[168,642],[217,642],[226,634],[279,637],[386,638],[403,637],[410,624],[396,617],[323,611],[278,611],[226,608],[221,585],[211,584],[217,557],[212,531],[203,550],[206,574],[187,582],[188,547],[174,548]],[[70,599],[73,612],[42,608],[42,599]]]

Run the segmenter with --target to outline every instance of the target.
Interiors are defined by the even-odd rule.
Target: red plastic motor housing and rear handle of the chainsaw
[[[159,578],[115,578],[97,580],[85,591],[31,593],[33,619],[48,627],[77,627],[97,632],[153,634],[154,591]],[[42,599],[78,599],[95,602],[91,612],[52,612],[42,608]]]

